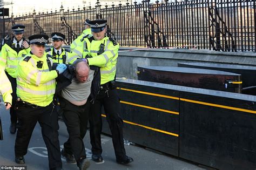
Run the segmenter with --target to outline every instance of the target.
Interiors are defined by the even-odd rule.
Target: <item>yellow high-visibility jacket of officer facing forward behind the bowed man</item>
[[[72,53],[69,49],[64,49],[62,48],[62,53],[60,53],[60,55],[56,55],[56,53],[54,52],[54,48],[49,48],[46,49],[45,52],[48,55],[52,56],[52,60],[53,63],[63,63],[63,64],[68,64],[69,63],[69,58],[78,58],[78,56],[76,55],[76,53]],[[64,60],[63,60],[64,59]]]

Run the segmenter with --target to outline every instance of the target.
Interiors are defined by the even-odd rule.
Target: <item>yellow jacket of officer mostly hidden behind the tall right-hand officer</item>
[[[73,40],[73,42],[71,43],[70,50],[72,52],[75,52],[78,55],[78,58],[83,57],[84,43],[83,43],[83,40],[81,41],[81,39],[83,39],[83,37],[87,35],[91,37],[92,36],[91,34],[92,34],[91,29],[85,29],[83,33],[80,36],[78,36],[75,40]]]

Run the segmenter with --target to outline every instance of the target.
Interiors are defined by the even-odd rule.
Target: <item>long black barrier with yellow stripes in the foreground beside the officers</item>
[[[256,97],[131,79],[117,85],[125,139],[213,168],[256,168]],[[103,124],[109,133],[104,114]]]

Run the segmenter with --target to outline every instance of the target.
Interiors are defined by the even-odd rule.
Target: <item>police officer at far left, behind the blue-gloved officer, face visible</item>
[[[12,32],[14,37],[6,42],[1,50],[0,56],[0,67],[5,70],[6,76],[11,82],[12,87],[12,104],[16,103],[16,76],[17,76],[17,65],[18,61],[23,58],[27,53],[30,52],[29,43],[23,37],[25,26],[17,24],[12,26]],[[14,107],[10,109],[11,125],[10,133],[15,134],[16,124],[17,124],[17,115],[14,110]]]

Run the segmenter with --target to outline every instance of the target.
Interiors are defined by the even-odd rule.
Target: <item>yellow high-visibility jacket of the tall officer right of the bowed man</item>
[[[109,37],[104,37],[102,40],[94,40],[93,37],[90,37],[85,38],[84,42],[83,58],[89,55],[91,57],[87,58],[89,65],[100,67],[100,84],[114,80],[119,49],[119,44],[116,40]],[[100,44],[104,44],[104,51],[98,55]]]

